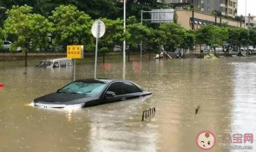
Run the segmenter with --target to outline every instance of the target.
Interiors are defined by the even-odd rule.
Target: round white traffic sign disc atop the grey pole
[[[102,22],[101,20],[97,20],[93,23],[92,33],[94,37],[101,38],[105,34],[105,31],[106,27],[104,22]]]

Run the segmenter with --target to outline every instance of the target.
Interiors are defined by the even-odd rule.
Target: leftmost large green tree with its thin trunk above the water
[[[18,47],[22,48],[22,52],[26,54],[28,49],[37,46],[46,46],[48,33],[51,31],[51,24],[47,19],[39,14],[32,14],[32,7],[13,6],[7,10],[7,19],[4,21],[4,36],[13,35],[14,42],[11,51]],[[26,66],[27,60],[25,61]]]

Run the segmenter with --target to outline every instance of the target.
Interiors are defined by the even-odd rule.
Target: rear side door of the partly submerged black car
[[[138,88],[133,83],[128,82],[128,81],[124,81],[124,82],[121,82],[120,84],[121,84],[121,87],[122,87],[122,90],[123,90],[123,93],[124,93],[123,98],[125,100],[132,99],[132,98],[137,98],[137,97],[140,97],[142,95],[141,89]]]

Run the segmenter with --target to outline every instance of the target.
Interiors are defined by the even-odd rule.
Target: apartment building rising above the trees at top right
[[[215,10],[225,16],[237,15],[237,0],[162,0],[162,3],[173,4],[177,9],[182,9],[184,5],[193,5],[203,13]]]

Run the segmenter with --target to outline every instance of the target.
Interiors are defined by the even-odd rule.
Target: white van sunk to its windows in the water
[[[47,59],[40,61],[36,67],[40,68],[59,68],[73,66],[72,60],[69,58]]]

